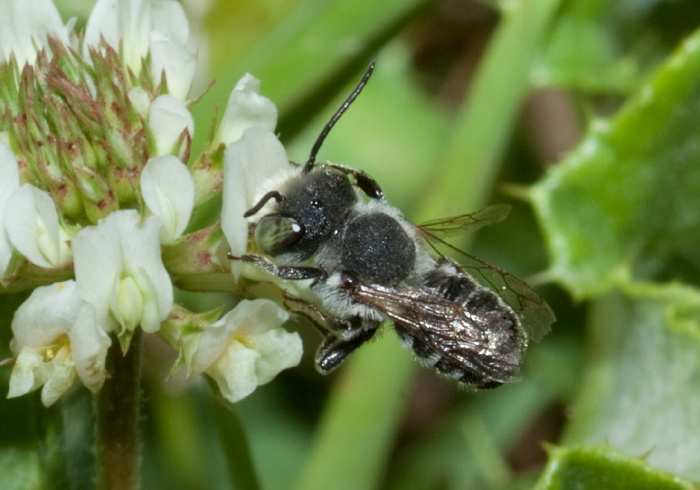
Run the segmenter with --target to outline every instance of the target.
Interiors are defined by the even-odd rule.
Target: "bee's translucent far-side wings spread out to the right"
[[[477,220],[477,227],[494,222],[489,221],[489,216],[502,216],[501,219],[503,219],[503,217],[505,217],[503,212],[507,214],[507,210],[504,208],[509,208],[509,206],[490,206],[471,215],[432,221],[428,223],[427,227],[425,225],[416,225],[416,229],[418,235],[423,237],[426,243],[428,243],[438,255],[444,257],[438,250],[436,244],[443,245],[456,252],[460,256],[459,265],[462,269],[481,285],[491,289],[503,298],[503,300],[520,316],[523,328],[528,332],[529,338],[538,341],[549,332],[555,317],[547,302],[542,299],[537,291],[510,272],[504,271],[499,267],[460,250],[447,243],[436,234],[456,230],[457,227],[452,225],[456,223],[455,220],[458,218],[458,221],[466,223],[469,221],[468,217],[481,217],[482,219]],[[467,228],[470,228],[468,223],[466,226],[462,226],[461,229],[464,230]]]

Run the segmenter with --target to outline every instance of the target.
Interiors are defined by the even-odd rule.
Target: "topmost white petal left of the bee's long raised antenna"
[[[260,95],[260,81],[246,74],[231,92],[216,139],[228,145],[240,139],[246,129],[274,131],[276,125],[277,107]]]

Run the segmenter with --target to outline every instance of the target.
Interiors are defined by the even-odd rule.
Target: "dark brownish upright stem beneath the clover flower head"
[[[115,339],[116,340],[116,339]],[[107,355],[111,378],[96,397],[97,488],[139,488],[138,414],[141,379],[141,329],[134,331],[126,355],[114,342]]]

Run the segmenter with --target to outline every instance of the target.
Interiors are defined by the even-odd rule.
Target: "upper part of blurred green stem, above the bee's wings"
[[[418,223],[484,205],[531,88],[533,61],[560,0],[501,3],[501,23],[457,114],[434,191],[426,193],[415,217]]]

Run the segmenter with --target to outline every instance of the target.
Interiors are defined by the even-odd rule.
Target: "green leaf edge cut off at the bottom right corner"
[[[549,448],[536,490],[692,490],[693,483],[609,447]]]

